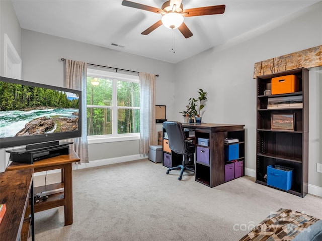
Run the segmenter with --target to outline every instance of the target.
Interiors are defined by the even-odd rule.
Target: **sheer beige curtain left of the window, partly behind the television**
[[[82,137],[70,140],[73,142],[71,147],[81,159],[80,163],[89,162],[87,142],[86,72],[87,63],[66,59],[65,87],[82,91]]]

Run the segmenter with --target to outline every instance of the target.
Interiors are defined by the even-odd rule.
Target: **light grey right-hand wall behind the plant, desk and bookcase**
[[[322,2],[263,29],[242,36],[224,46],[210,49],[176,64],[176,109],[184,109],[197,89],[208,92],[203,122],[244,124],[246,168],[256,169],[256,62],[322,44]],[[321,68],[311,69],[309,184],[322,187],[322,173],[316,172],[321,153]],[[182,86],[185,86],[182,91]],[[313,97],[314,96],[314,97]],[[322,189],[321,189],[322,190]]]

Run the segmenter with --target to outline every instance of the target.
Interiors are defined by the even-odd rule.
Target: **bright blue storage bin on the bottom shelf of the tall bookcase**
[[[293,169],[280,165],[267,167],[267,185],[288,191],[292,187]]]

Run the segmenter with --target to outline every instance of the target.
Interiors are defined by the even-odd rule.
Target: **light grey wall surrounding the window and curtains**
[[[173,118],[173,64],[25,29],[22,29],[21,48],[22,76],[32,82],[63,86],[64,63],[61,58],[159,74],[156,78],[156,104],[167,105],[167,115]],[[158,130],[161,128],[157,125]],[[139,141],[89,145],[90,161],[131,155],[139,155]]]

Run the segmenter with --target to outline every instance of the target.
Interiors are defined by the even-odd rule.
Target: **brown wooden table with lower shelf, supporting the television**
[[[44,211],[54,207],[64,206],[65,226],[70,225],[73,222],[72,215],[72,163],[79,162],[79,158],[70,149],[68,155],[60,155],[40,161],[36,161],[33,164],[24,164],[18,162],[12,162],[6,171],[22,170],[34,168],[35,172],[43,172],[54,169],[61,169],[61,182],[50,184],[42,187],[34,188],[34,193],[42,191],[55,190],[63,188],[61,193],[50,195],[47,200],[40,203],[35,203],[35,212]]]

